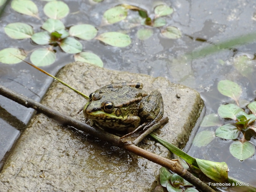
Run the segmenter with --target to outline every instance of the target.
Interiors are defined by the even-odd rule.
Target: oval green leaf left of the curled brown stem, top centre
[[[127,9],[121,5],[110,8],[103,14],[103,18],[108,21],[108,23],[116,23],[125,19],[127,16]]]

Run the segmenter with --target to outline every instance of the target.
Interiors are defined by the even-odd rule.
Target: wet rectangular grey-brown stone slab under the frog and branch
[[[148,93],[158,89],[169,122],[158,134],[184,147],[203,101],[195,90],[164,78],[107,70],[87,63],[71,63],[58,78],[89,95],[115,82],[139,81]],[[84,121],[77,111],[86,100],[53,82],[42,103]],[[160,144],[145,138],[140,147],[170,158]],[[0,191],[153,191],[161,166],[142,157],[58,125],[39,114],[32,120],[0,174]]]

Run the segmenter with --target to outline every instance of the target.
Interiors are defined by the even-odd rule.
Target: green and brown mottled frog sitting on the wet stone
[[[149,127],[163,117],[163,98],[158,90],[148,95],[142,88],[140,82],[101,87],[90,94],[83,107],[84,116],[90,125],[105,130],[130,133],[140,126]]]

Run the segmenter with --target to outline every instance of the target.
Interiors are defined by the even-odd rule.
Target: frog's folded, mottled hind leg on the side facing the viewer
[[[152,125],[159,121],[164,115],[164,103],[162,94],[154,90],[146,97],[143,97],[139,105],[139,116],[144,122]],[[147,125],[147,126],[148,126]]]

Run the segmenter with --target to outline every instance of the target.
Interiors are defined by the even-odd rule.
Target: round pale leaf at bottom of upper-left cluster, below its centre
[[[56,55],[54,51],[49,50],[48,48],[36,49],[30,55],[31,62],[38,67],[51,65],[54,63],[55,59]]]

